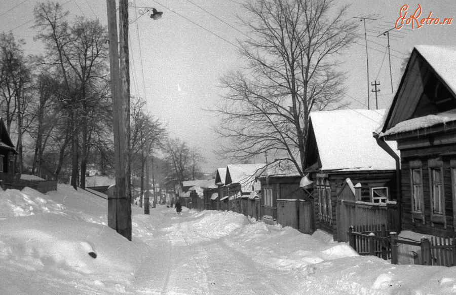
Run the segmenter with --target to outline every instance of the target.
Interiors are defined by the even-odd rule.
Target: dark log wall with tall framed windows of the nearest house
[[[456,138],[456,134],[451,136]],[[428,144],[423,144],[423,137],[425,136],[416,138],[414,148],[410,148],[413,146],[413,140],[406,142],[398,140],[399,148],[402,147],[402,230],[454,237],[456,144],[436,146],[431,145],[433,140],[430,139]],[[407,148],[404,149],[404,146]],[[439,176],[440,179],[436,179]],[[432,178],[439,181],[433,181]],[[434,185],[435,188],[433,188]],[[441,190],[440,205],[433,202],[432,192],[438,192],[438,190]],[[413,198],[414,192],[416,192],[416,198]],[[438,195],[438,193],[434,194]],[[439,203],[438,199],[437,203]]]

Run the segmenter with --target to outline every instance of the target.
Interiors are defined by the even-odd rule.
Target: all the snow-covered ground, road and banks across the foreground
[[[456,268],[391,265],[324,232],[233,212],[132,211],[129,242],[93,194],[0,191],[0,294],[456,293]]]

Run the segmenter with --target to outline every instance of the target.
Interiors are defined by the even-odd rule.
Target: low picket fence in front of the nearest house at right
[[[350,246],[360,255],[373,255],[398,264],[398,247],[406,244],[420,248],[417,263],[421,265],[456,265],[456,238],[431,237],[422,238],[420,242],[404,240],[398,238],[395,231],[385,230],[384,225],[380,230],[378,226],[351,226],[347,234]]]

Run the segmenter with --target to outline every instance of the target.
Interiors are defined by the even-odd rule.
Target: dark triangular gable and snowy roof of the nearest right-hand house
[[[455,65],[454,48],[416,46],[382,126],[381,135],[456,120],[455,116],[442,115],[456,109]],[[446,117],[443,118],[444,116]],[[424,119],[416,120],[417,118]],[[398,125],[408,120],[412,121]]]

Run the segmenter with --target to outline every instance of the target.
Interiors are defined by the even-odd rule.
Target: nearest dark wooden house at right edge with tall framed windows
[[[456,48],[413,49],[377,134],[400,150],[402,230],[456,237]]]

